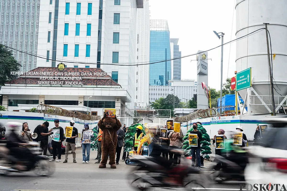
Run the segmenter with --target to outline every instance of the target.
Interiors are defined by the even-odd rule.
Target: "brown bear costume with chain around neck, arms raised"
[[[117,147],[117,131],[121,128],[122,124],[117,117],[103,117],[98,122],[98,127],[103,131],[102,133],[102,161],[99,168],[106,168],[108,155],[110,158],[110,168],[116,167],[116,147]]]

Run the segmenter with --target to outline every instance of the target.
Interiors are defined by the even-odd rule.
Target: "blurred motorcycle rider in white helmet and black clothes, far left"
[[[10,136],[7,142],[7,148],[10,150],[10,155],[18,159],[16,162],[16,168],[18,170],[29,170],[35,163],[34,155],[30,152],[29,149],[24,147],[19,147],[19,145],[28,145],[25,141],[22,141],[18,137],[16,130],[21,126],[21,123],[18,122],[8,122],[7,126],[11,130]],[[23,166],[24,163],[29,165]],[[27,168],[27,169],[26,169]]]

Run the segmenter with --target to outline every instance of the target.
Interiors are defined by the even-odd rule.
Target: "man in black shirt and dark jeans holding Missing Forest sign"
[[[197,158],[197,168],[200,170],[201,160],[200,160],[200,142],[202,141],[202,134],[197,130],[197,123],[192,124],[193,131],[192,134],[197,134],[197,147],[191,147],[191,166],[195,166],[195,160]],[[196,157],[195,157],[196,154]]]

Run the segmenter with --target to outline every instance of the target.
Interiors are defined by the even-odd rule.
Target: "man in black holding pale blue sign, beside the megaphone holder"
[[[56,155],[58,151],[58,160],[56,162],[61,162],[61,153],[62,153],[62,141],[64,140],[64,129],[59,126],[59,119],[54,120],[55,127],[52,128],[50,131],[53,132],[52,134],[52,154],[53,154],[53,159],[49,161],[55,161],[56,160]]]

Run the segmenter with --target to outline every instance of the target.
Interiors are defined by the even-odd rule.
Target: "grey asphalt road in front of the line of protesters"
[[[72,154],[69,153],[68,163],[54,162],[55,173],[50,177],[39,177],[34,172],[10,173],[0,176],[0,190],[21,191],[135,191],[128,183],[127,174],[134,168],[120,161],[117,169],[99,169],[94,164],[97,151],[91,152],[90,163],[82,164],[82,149],[76,150],[77,163],[73,163]],[[209,166],[210,162],[205,162]],[[210,169],[202,168],[204,173],[210,173]],[[209,190],[239,190],[238,184],[213,184]],[[152,188],[151,191],[160,191],[164,188]],[[183,189],[176,189],[183,190]]]

